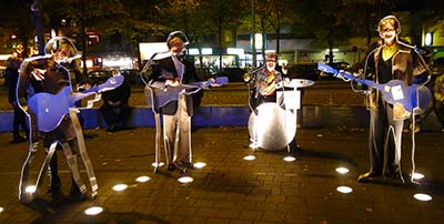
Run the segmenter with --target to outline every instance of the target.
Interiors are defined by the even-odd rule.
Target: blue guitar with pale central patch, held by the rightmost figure
[[[345,81],[353,80],[377,89],[381,91],[386,102],[393,105],[401,104],[408,113],[423,113],[432,99],[431,91],[427,88],[418,84],[406,85],[401,80],[391,80],[387,83],[380,84],[371,80],[356,78],[344,70],[336,70],[322,62],[317,62],[317,70],[333,73],[335,78],[343,79]]]

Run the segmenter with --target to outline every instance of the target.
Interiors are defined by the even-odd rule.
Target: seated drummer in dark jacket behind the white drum
[[[276,90],[283,86],[283,74],[276,70],[278,55],[274,52],[265,54],[265,65],[250,73],[243,79],[249,84],[249,106],[258,114],[256,108],[265,102],[274,102],[283,106],[283,99],[279,98]],[[256,149],[255,136],[250,136],[250,147]]]

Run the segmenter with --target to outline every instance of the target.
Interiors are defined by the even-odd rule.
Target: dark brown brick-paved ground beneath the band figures
[[[78,202],[68,196],[52,200],[41,190],[40,200],[26,206],[18,202],[18,182],[27,143],[8,143],[0,134],[0,223],[442,223],[444,218],[444,138],[438,132],[416,135],[416,169],[425,174],[421,185],[411,184],[410,135],[403,139],[403,172],[407,180],[379,180],[357,183],[367,169],[367,132],[361,129],[302,129],[296,133],[301,149],[255,151],[248,149],[246,128],[198,129],[193,133],[193,162],[203,169],[186,173],[169,172],[164,166],[154,174],[154,130],[149,128],[107,133],[87,130],[87,147],[99,183],[94,200]],[[61,152],[62,191],[69,194],[70,174]],[[32,177],[43,152],[33,161]],[[296,157],[285,162],[285,155]],[[254,155],[255,160],[243,160]],[[339,166],[347,174],[335,172]],[[87,180],[85,172],[82,172]],[[135,182],[138,176],[150,181]],[[194,182],[181,184],[189,175]],[[48,183],[44,180],[43,186]],[[122,192],[115,184],[128,184]],[[337,186],[352,187],[342,194]],[[416,201],[415,193],[433,200]],[[97,216],[83,211],[104,210]]]

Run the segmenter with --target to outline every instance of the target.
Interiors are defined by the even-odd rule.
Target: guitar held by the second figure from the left
[[[178,86],[147,85],[145,86],[145,98],[147,98],[149,108],[159,109],[159,108],[164,106],[167,103],[169,103],[171,101],[178,101],[179,94],[182,92],[182,90],[208,89],[209,86],[226,84],[228,82],[229,82],[228,77],[218,77],[218,78],[215,78],[215,80],[209,80],[209,81],[204,81],[204,82],[195,82],[195,83],[191,83],[191,84],[180,84]]]

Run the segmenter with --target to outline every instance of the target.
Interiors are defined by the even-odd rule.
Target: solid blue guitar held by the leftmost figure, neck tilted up
[[[98,92],[118,88],[123,83],[123,75],[111,77],[103,84],[95,85],[83,92],[72,92],[71,86],[63,88],[57,94],[40,92],[29,99],[28,109],[37,116],[38,130],[50,132],[59,126],[63,116],[69,113],[70,108],[73,108],[77,101]]]

